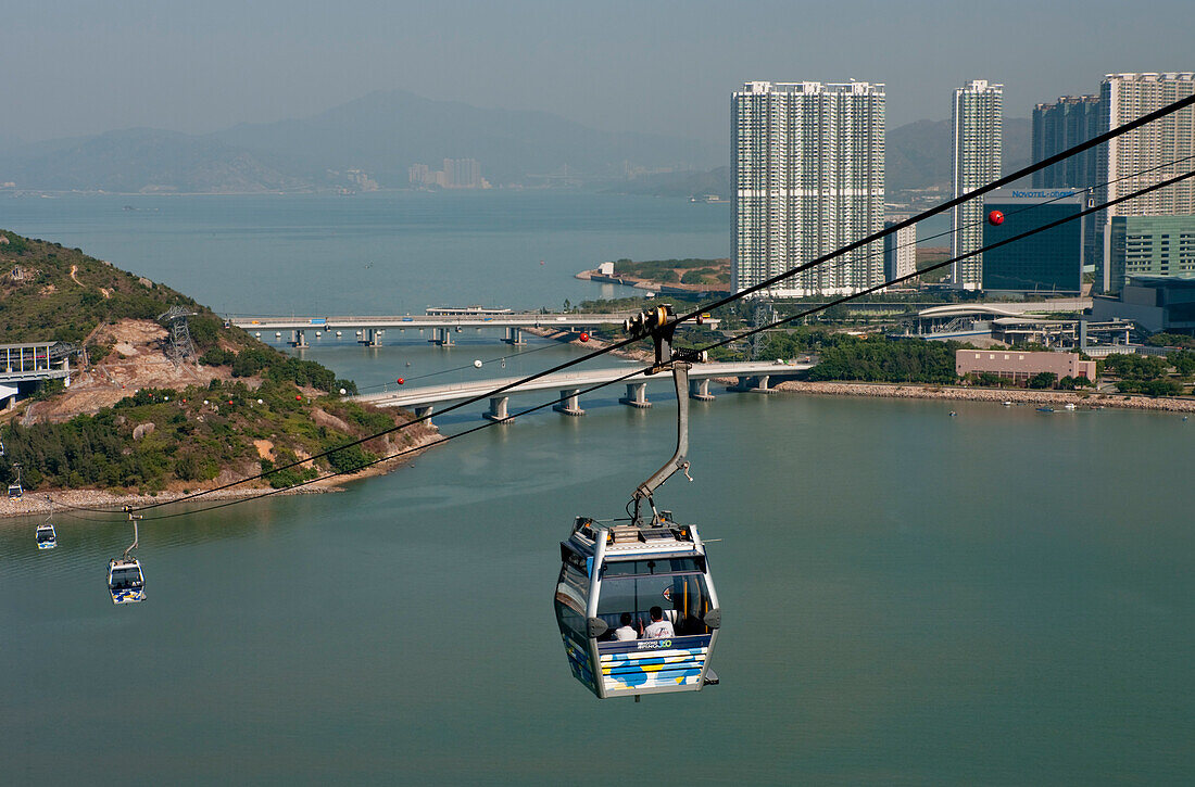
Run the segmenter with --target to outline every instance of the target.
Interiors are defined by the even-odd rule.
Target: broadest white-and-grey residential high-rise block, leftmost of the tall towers
[[[731,123],[736,293],[881,229],[882,84],[746,82]],[[768,294],[847,294],[883,281],[883,246],[874,242]]]

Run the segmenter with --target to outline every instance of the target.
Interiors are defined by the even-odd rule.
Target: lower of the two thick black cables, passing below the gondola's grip
[[[1053,222],[1049,222],[1047,225],[1042,225],[1041,227],[1035,227],[1035,228],[1029,229],[1027,232],[1023,232],[1023,233],[1021,233],[1018,235],[1013,235],[1011,238],[1006,238],[1004,240],[993,242],[993,244],[991,244],[988,246],[985,246],[982,248],[978,248],[978,250],[975,250],[973,252],[968,252],[966,254],[958,254],[957,257],[954,257],[951,259],[946,259],[946,260],[943,260],[940,263],[936,263],[934,265],[931,265],[931,266],[924,269],[923,271],[918,271],[918,272],[909,273],[909,275],[906,275],[906,276],[896,277],[894,279],[884,282],[883,284],[877,284],[874,288],[870,288],[868,290],[862,290],[862,291],[854,293],[852,295],[844,295],[844,296],[841,296],[841,297],[839,297],[839,299],[836,299],[834,301],[831,301],[828,303],[817,305],[817,306],[811,307],[811,308],[809,308],[809,309],[807,309],[807,311],[804,311],[804,312],[802,312],[799,314],[795,314],[792,316],[784,318],[783,320],[777,320],[776,322],[772,322],[772,324],[770,324],[767,326],[761,326],[761,327],[758,327],[758,328],[753,328],[750,331],[744,331],[742,333],[739,333],[739,334],[736,334],[734,337],[730,337],[728,339],[724,339],[722,342],[716,342],[716,343],[705,345],[704,348],[700,348],[700,349],[701,350],[712,350],[715,348],[724,346],[725,344],[730,344],[733,342],[739,342],[741,339],[748,338],[748,337],[750,337],[750,336],[753,336],[755,333],[759,333],[761,331],[766,331],[768,328],[773,328],[773,327],[784,325],[786,322],[791,322],[792,320],[797,320],[797,319],[801,319],[803,316],[808,316],[810,314],[816,314],[817,312],[822,312],[825,309],[828,309],[829,307],[835,306],[838,303],[844,303],[844,302],[847,302],[847,301],[852,301],[852,300],[854,300],[857,297],[860,297],[863,295],[866,295],[866,294],[869,294],[871,291],[876,291],[876,290],[882,289],[884,287],[890,287],[891,284],[896,284],[896,283],[900,283],[902,281],[907,281],[907,279],[914,278],[914,277],[919,276],[920,273],[925,272],[926,270],[937,270],[939,268],[944,268],[946,265],[950,265],[950,264],[954,264],[956,262],[967,259],[967,258],[973,257],[975,254],[981,254],[981,253],[992,251],[994,248],[999,248],[1001,246],[1005,246],[1007,244],[1012,244],[1012,242],[1017,242],[1019,240],[1024,240],[1025,238],[1030,238],[1032,235],[1036,235],[1037,233],[1042,233],[1042,232],[1046,232],[1048,229],[1053,229],[1054,227],[1059,227],[1059,226],[1065,225],[1067,222],[1076,221],[1077,219],[1081,219],[1083,216],[1090,215],[1092,213],[1097,213],[1097,211],[1103,210],[1105,208],[1109,208],[1111,205],[1116,205],[1116,204],[1120,204],[1122,202],[1127,202],[1129,199],[1134,199],[1134,198],[1140,197],[1142,195],[1150,193],[1151,191],[1157,191],[1159,189],[1164,189],[1164,187],[1173,185],[1176,183],[1181,183],[1182,180],[1187,180],[1188,178],[1191,178],[1191,177],[1195,177],[1195,170],[1193,170],[1190,172],[1185,172],[1185,173],[1178,174],[1178,176],[1175,176],[1175,177],[1169,178],[1166,180],[1162,180],[1162,182],[1159,182],[1157,184],[1153,184],[1153,185],[1150,185],[1150,186],[1145,186],[1145,187],[1139,189],[1139,190],[1136,190],[1136,191],[1134,191],[1132,193],[1124,195],[1122,197],[1117,197],[1116,199],[1111,199],[1109,202],[1104,202],[1104,203],[1102,203],[1099,205],[1096,205],[1093,208],[1087,208],[1087,209],[1085,209],[1083,211],[1079,211],[1079,213],[1077,213],[1074,215],[1064,216],[1064,217],[1058,219],[1058,220],[1055,220]],[[584,388],[582,391],[578,391],[577,394],[575,394],[575,395],[582,395],[582,394],[586,394],[586,393],[592,393],[594,391],[599,391],[599,389],[605,388],[607,386],[611,386],[611,385],[614,385],[614,383],[618,383],[618,382],[623,382],[625,380],[629,380],[629,379],[636,376],[637,374],[645,373],[645,371],[648,371],[648,370],[650,370],[652,368],[654,368],[652,365],[648,365],[648,367],[643,367],[643,368],[639,368],[639,369],[631,370],[627,374],[621,375],[621,376],[619,376],[619,377],[617,377],[614,380],[611,380],[611,381],[607,381],[607,382],[601,382],[601,383],[590,386],[589,388]],[[540,405],[537,405],[534,407],[528,407],[526,410],[516,412],[513,416],[509,416],[507,420],[514,419],[514,418],[520,417],[520,416],[526,416],[528,413],[537,412],[539,410],[543,410],[544,407],[550,407],[551,405],[554,405],[557,402],[564,401],[564,399],[565,398],[557,398],[557,399],[553,399],[553,400],[550,400],[550,401],[545,401],[545,402],[543,402]],[[167,518],[174,518],[174,517],[179,517],[179,516],[189,516],[189,515],[192,515],[192,514],[202,514],[204,511],[212,511],[212,510],[215,510],[215,509],[222,509],[222,508],[227,508],[229,505],[237,505],[239,503],[247,503],[250,500],[257,500],[257,499],[261,499],[261,498],[264,498],[264,497],[270,497],[270,496],[274,496],[274,494],[278,494],[281,492],[287,492],[289,490],[295,490],[295,488],[299,488],[299,487],[302,487],[302,486],[307,486],[310,484],[314,484],[314,482],[320,481],[320,480],[327,480],[330,478],[336,478],[338,475],[347,475],[347,474],[350,474],[350,473],[355,473],[355,472],[357,472],[360,469],[363,469],[366,467],[370,467],[373,465],[378,465],[378,463],[381,463],[381,462],[387,462],[387,461],[391,461],[391,460],[394,460],[394,459],[399,459],[399,457],[402,457],[404,455],[423,450],[424,448],[431,448],[431,447],[440,445],[440,444],[451,442],[453,439],[456,439],[458,437],[464,437],[466,435],[472,435],[474,432],[482,431],[483,429],[489,429],[491,426],[495,426],[498,423],[501,423],[501,422],[486,422],[486,423],[480,424],[478,426],[473,426],[471,429],[467,429],[467,430],[465,430],[462,432],[456,432],[455,435],[448,435],[448,436],[442,437],[442,438],[440,438],[440,439],[437,439],[437,441],[435,441],[433,443],[429,443],[427,445],[419,445],[419,447],[407,448],[407,449],[404,449],[404,450],[402,450],[402,451],[399,451],[397,454],[391,454],[391,455],[387,455],[387,456],[382,456],[382,457],[375,459],[375,460],[373,460],[370,462],[367,462],[367,463],[363,463],[363,465],[361,465],[361,466],[358,466],[358,467],[356,467],[356,468],[354,468],[351,471],[338,471],[338,472],[335,472],[335,473],[329,473],[326,475],[323,475],[323,476],[319,476],[319,478],[314,478],[314,479],[310,479],[310,480],[306,480],[306,481],[301,481],[301,482],[292,485],[292,486],[282,487],[282,488],[278,488],[278,490],[271,490],[271,491],[264,492],[262,494],[255,494],[255,496],[246,496],[246,497],[237,498],[237,499],[228,500],[228,502],[225,502],[225,503],[220,503],[220,504],[216,504],[216,505],[206,506],[206,508],[202,508],[202,509],[198,509],[198,510],[195,510],[195,511],[179,511],[177,514],[167,514],[167,515],[161,515],[161,516],[155,516],[155,517],[147,517],[147,518],[151,519],[151,521],[152,519],[167,519]],[[305,461],[311,461],[311,460],[305,460]],[[172,500],[172,502],[178,502],[178,500]]]

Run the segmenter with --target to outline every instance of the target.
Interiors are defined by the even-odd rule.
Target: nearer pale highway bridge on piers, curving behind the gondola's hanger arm
[[[770,380],[772,377],[793,377],[816,365],[815,358],[799,363],[780,363],[776,361],[747,361],[733,363],[697,363],[688,371],[688,395],[692,399],[712,400],[710,394],[710,380],[713,377],[735,377],[737,383],[731,387],[734,391],[752,391],[768,393]],[[560,371],[557,374],[533,380],[503,391],[501,394],[490,396],[490,410],[485,417],[491,420],[510,420],[508,413],[508,400],[513,394],[533,393],[538,391],[559,392],[559,401],[552,410],[565,416],[583,416],[581,408],[581,391],[592,388],[599,383],[613,382],[631,371],[633,364],[624,367],[612,367],[602,369],[588,369],[580,371]],[[363,394],[353,396],[356,401],[364,401],[379,407],[409,407],[418,416],[430,416],[436,405],[483,396],[495,388],[501,388],[517,382],[522,377],[490,377],[485,380],[473,380],[470,382],[455,382],[441,386],[422,386],[418,388],[398,388],[382,393]],[[670,383],[667,373],[648,376],[643,373],[624,380],[626,395],[619,401],[631,407],[650,407],[646,387],[649,380],[662,380]]]

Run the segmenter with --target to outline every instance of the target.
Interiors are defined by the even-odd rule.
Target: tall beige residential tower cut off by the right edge
[[[1111,130],[1142,115],[1162,109],[1195,93],[1195,73],[1107,74],[1099,86],[1099,98]],[[1171,112],[1166,117],[1110,140],[1107,155],[1101,156],[1099,201],[1144,189],[1190,170],[1195,155],[1195,107]],[[1148,172],[1145,172],[1148,170]],[[1129,199],[1102,211],[1103,265],[1099,282],[1105,293],[1115,293],[1121,281],[1113,276],[1111,223],[1116,216],[1173,216],[1195,214],[1195,183],[1184,180]]]

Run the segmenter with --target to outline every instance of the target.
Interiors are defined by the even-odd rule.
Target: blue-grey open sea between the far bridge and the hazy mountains
[[[560,308],[635,294],[574,278],[605,260],[730,254],[728,204],[584,192],[25,196],[0,227],[235,314]]]

